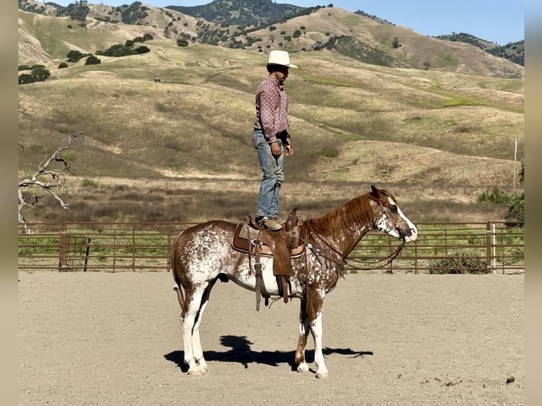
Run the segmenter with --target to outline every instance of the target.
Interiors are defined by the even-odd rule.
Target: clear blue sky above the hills
[[[53,0],[67,6],[75,0]],[[139,0],[156,7],[198,6],[212,0]],[[89,4],[108,6],[132,4],[127,0],[88,0]],[[506,45],[525,38],[525,4],[516,0],[276,0],[277,3],[296,6],[327,6],[348,11],[362,10],[403,25],[422,35],[468,33],[482,40]],[[525,3],[529,3],[526,1]]]

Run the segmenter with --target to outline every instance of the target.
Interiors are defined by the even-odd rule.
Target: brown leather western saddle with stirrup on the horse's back
[[[259,226],[253,216],[248,216],[247,223],[237,224],[233,233],[231,246],[241,253],[248,254],[248,264],[252,268],[254,257],[254,271],[256,275],[256,311],[260,310],[260,298],[265,298],[265,306],[269,303],[270,295],[263,284],[262,265],[260,257],[273,258],[273,275],[277,279],[279,295],[288,303],[292,293],[292,258],[300,257],[305,250],[300,235],[304,225],[299,222],[293,209],[281,230],[271,231]]]

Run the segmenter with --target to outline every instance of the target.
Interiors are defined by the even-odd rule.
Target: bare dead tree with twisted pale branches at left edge
[[[30,176],[18,177],[18,219],[19,224],[23,225],[25,233],[28,234],[31,231],[26,226],[23,210],[27,208],[33,209],[38,204],[38,200],[45,197],[45,195],[38,195],[38,191],[48,193],[63,209],[69,209],[69,204],[64,202],[62,195],[67,194],[66,175],[73,175],[73,173],[70,171],[71,164],[62,157],[62,153],[69,149],[76,149],[74,143],[77,137],[82,137],[82,133],[70,134],[67,141],[64,141],[49,158],[40,163],[35,173]],[[30,193],[23,193],[26,187],[28,187]]]

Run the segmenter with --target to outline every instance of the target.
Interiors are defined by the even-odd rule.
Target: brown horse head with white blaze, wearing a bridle
[[[374,204],[374,228],[411,243],[417,238],[417,228],[399,208],[396,199],[386,190],[371,185],[369,199]]]

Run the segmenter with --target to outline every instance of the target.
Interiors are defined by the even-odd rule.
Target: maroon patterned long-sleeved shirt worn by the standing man
[[[254,129],[263,130],[270,144],[289,126],[288,96],[282,83],[270,74],[258,86],[256,92],[256,122]]]

